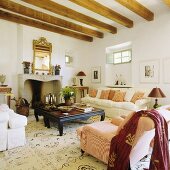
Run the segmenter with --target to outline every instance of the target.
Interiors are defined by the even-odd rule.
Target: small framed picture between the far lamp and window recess
[[[100,66],[98,67],[92,67],[91,71],[91,81],[92,83],[100,83],[101,81],[101,75],[100,75]]]

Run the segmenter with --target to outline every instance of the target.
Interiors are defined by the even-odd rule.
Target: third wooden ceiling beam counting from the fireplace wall
[[[101,29],[101,30],[104,30],[107,32],[111,32],[113,34],[115,34],[117,32],[117,29],[112,25],[98,21],[92,17],[86,16],[80,12],[77,12],[75,10],[67,8],[67,7],[60,5],[58,3],[55,3],[51,0],[22,0],[22,1],[32,4],[32,5],[35,5],[37,7],[49,10],[56,14],[62,15],[64,17],[68,17],[68,18],[74,19],[76,21],[85,23],[87,25],[96,27],[98,29]]]

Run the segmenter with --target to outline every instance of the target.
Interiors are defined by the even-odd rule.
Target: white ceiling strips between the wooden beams
[[[79,23],[75,20],[72,20],[72,19],[69,19],[69,18],[66,18],[66,17],[63,17],[63,16],[60,16],[60,15],[57,15],[57,14],[54,14],[50,11],[47,11],[47,10],[44,10],[44,9],[41,9],[41,8],[38,8],[38,7],[35,7],[33,5],[29,5],[25,2],[22,2],[21,0],[12,0],[14,2],[17,2],[17,3],[20,3],[24,6],[27,6],[27,7],[31,7],[33,9],[38,9],[39,11],[42,11],[42,12],[45,12],[47,14],[50,14],[50,15],[53,15],[53,16],[57,16],[59,18],[62,18],[62,19],[65,19],[67,21],[72,21],[74,23],[78,23],[80,25],[83,25],[83,26],[86,26],[86,27],[89,27],[89,28],[93,28],[93,29],[96,29],[94,27],[91,27],[91,26],[87,26],[83,23]],[[87,10],[81,6],[78,6],[72,2],[70,2],[69,0],[53,0],[54,2],[56,3],[59,3],[61,5],[64,5],[68,8],[71,8],[73,10],[76,10],[77,12],[80,12],[80,13],[83,13],[85,15],[88,15],[90,17],[93,17],[97,20],[100,20],[102,22],[105,22],[105,23],[108,23],[110,25],[113,25],[115,27],[119,29],[122,29],[122,28],[126,28],[118,23],[115,23],[114,21],[110,20],[110,19],[107,19],[105,17],[102,17],[101,15],[98,15],[90,10]],[[105,5],[107,7],[109,7],[110,9],[120,13],[121,15],[124,15],[125,17],[131,19],[132,21],[134,21],[134,26],[135,24],[139,23],[139,22],[152,22],[152,21],[146,21],[144,18],[140,17],[139,15],[135,14],[134,12],[128,10],[126,7],[122,6],[121,4],[115,2],[114,0],[96,0],[97,2],[101,3],[102,5]],[[164,0],[138,0],[139,3],[141,3],[142,5],[144,5],[146,8],[148,8],[150,11],[152,11],[154,13],[154,18],[158,17],[159,15],[163,14],[163,13],[167,13],[167,12],[170,12],[170,7],[168,7],[165,3],[164,3]],[[128,29],[128,28],[126,28]]]

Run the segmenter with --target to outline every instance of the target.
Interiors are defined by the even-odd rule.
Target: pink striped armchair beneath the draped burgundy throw
[[[107,164],[111,139],[131,116],[132,114],[125,119],[118,118],[112,121],[95,122],[77,129],[81,150]],[[133,149],[130,153],[131,167],[148,154],[154,134],[154,122],[149,117],[141,117],[138,122]]]

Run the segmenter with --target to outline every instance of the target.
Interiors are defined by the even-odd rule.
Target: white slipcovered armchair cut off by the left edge
[[[0,151],[23,146],[27,118],[16,114],[8,105],[0,105]]]

